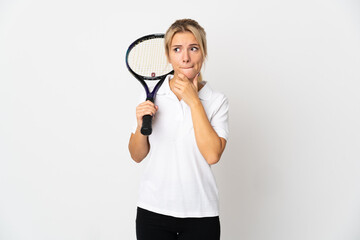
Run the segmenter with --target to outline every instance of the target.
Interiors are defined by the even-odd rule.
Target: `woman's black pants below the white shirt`
[[[176,218],[137,209],[138,240],[219,240],[219,217]]]

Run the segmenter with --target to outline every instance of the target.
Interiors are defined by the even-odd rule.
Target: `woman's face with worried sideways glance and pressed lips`
[[[199,43],[191,32],[176,33],[171,41],[169,62],[175,75],[182,73],[190,80],[200,72],[203,56]]]

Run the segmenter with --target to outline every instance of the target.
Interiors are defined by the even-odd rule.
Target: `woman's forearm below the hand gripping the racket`
[[[135,134],[131,134],[129,140],[129,152],[131,158],[140,163],[149,153],[150,144],[148,137],[140,133],[140,129],[137,129]]]

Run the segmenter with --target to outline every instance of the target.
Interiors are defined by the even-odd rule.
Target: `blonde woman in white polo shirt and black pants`
[[[201,81],[207,56],[204,29],[194,20],[174,22],[165,34],[174,75],[156,96],[136,108],[131,157],[147,167],[140,186],[138,240],[220,239],[218,192],[211,165],[228,137],[228,101]],[[142,117],[154,116],[153,133],[140,133]]]

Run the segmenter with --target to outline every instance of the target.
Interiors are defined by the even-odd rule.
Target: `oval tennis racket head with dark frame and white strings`
[[[164,34],[136,39],[126,51],[126,67],[138,80],[160,80],[174,71],[165,54]]]

